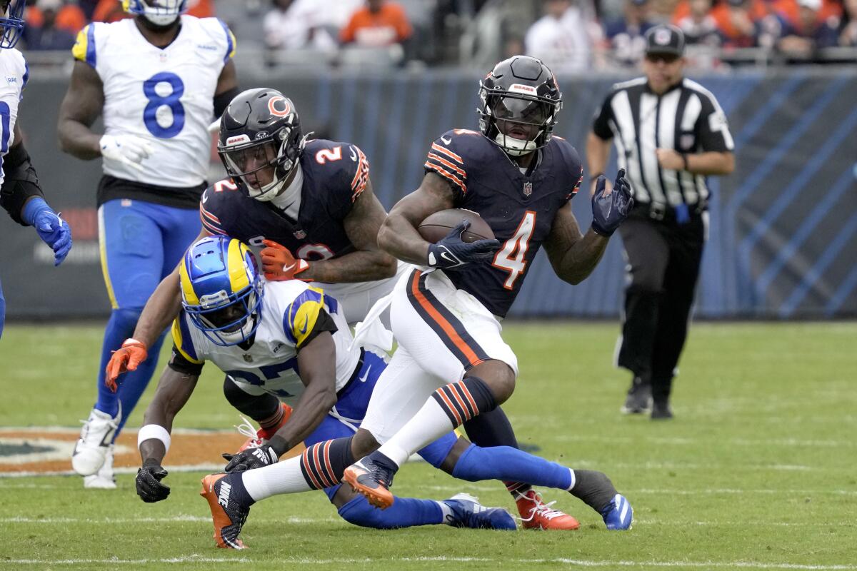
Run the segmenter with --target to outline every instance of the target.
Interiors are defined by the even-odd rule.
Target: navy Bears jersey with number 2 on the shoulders
[[[270,202],[252,199],[231,180],[202,194],[202,225],[212,234],[261,246],[279,242],[297,258],[328,259],[354,251],[343,220],[369,181],[369,161],[355,145],[310,140],[301,154],[303,187],[297,220]]]

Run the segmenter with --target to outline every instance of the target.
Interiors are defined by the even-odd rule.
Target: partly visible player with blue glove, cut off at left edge
[[[24,30],[26,0],[0,0],[0,73],[6,82],[0,86],[0,206],[21,226],[33,226],[54,251],[54,265],[60,265],[71,249],[71,230],[45,202],[39,177],[21,141],[18,104],[24,97],[29,68],[15,44]],[[6,301],[0,288],[0,336]]]

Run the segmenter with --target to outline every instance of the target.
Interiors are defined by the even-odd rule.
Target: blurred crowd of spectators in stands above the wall
[[[857,0],[189,0],[269,65],[475,65],[527,53],[562,71],[636,66],[671,22],[692,66],[855,62]],[[23,47],[65,51],[120,0],[30,0]]]

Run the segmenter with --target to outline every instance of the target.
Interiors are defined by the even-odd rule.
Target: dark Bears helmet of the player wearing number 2
[[[270,200],[297,169],[306,139],[291,99],[262,87],[232,99],[220,118],[217,150],[252,198]]]

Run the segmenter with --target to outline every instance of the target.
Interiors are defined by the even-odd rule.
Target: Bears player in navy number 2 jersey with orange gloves
[[[295,105],[281,92],[258,88],[238,94],[219,131],[219,155],[231,178],[202,194],[199,238],[229,235],[266,246],[261,259],[269,281],[297,277],[319,285],[339,300],[346,321],[355,323],[395,284],[396,260],[376,242],[387,212],[372,192],[369,162],[357,146],[308,137]],[[177,268],[148,300],[133,338],[113,354],[108,386],[146,360],[147,348],[180,307]],[[231,386],[226,378],[227,399],[260,423],[260,438],[285,422],[290,409],[276,398],[247,401]]]

